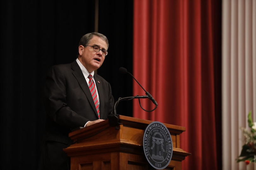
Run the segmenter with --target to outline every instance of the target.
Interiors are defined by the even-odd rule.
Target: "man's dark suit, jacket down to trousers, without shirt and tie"
[[[100,99],[100,118],[107,119],[114,106],[111,86],[97,74],[94,74],[94,80]],[[44,106],[46,134],[40,166],[47,165],[47,168],[41,169],[51,169],[51,159],[64,161],[62,156],[66,154],[63,149],[72,144],[68,134],[73,129],[84,127],[86,122],[98,119],[88,84],[76,61],[51,67],[46,76]],[[60,153],[57,153],[58,150]],[[51,158],[52,155],[54,158]]]

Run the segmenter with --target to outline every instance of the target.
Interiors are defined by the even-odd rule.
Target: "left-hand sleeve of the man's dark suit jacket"
[[[83,127],[89,120],[77,114],[67,104],[66,65],[52,66],[46,76],[44,106],[49,119],[58,125],[73,129]]]

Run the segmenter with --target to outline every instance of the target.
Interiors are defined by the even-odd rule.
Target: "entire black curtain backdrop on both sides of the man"
[[[109,54],[97,74],[110,82],[115,100],[132,95],[131,0],[99,0],[98,32],[109,39]],[[80,38],[93,32],[95,1],[2,0],[1,169],[37,169],[45,124],[42,93],[49,67],[76,59]],[[117,113],[132,116],[122,101]]]

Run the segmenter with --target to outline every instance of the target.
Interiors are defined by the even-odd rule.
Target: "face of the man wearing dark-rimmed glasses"
[[[88,43],[90,46],[98,46],[102,50],[107,50],[107,43],[101,38],[94,36]],[[103,64],[105,56],[102,55],[102,51],[95,52],[93,47],[82,46],[78,47],[79,56],[78,59],[82,65],[91,73],[94,70],[97,70]]]

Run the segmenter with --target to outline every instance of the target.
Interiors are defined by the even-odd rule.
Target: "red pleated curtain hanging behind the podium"
[[[180,147],[192,155],[182,161],[184,170],[220,169],[214,23],[221,22],[215,17],[221,11],[213,10],[212,1],[134,0],[133,75],[158,107],[146,112],[133,100],[133,116],[186,127]],[[135,81],[133,94],[145,95]],[[155,107],[148,99],[140,101],[146,110]]]

